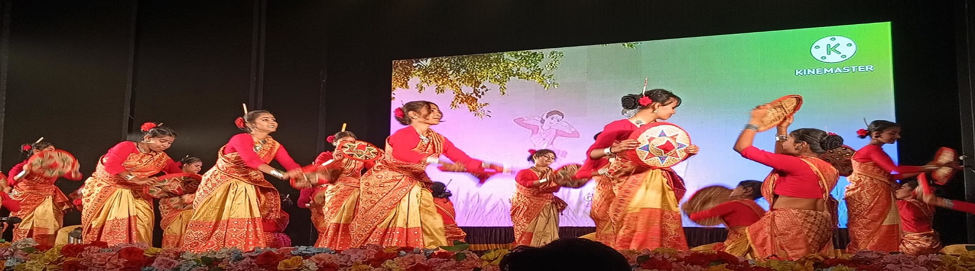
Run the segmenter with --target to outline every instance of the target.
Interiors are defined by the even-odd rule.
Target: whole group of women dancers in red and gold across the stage
[[[650,169],[619,155],[640,145],[630,139],[635,130],[668,120],[681,102],[681,97],[660,89],[622,97],[623,109],[635,113],[607,124],[574,172],[550,167],[558,158],[555,151],[532,150],[528,160],[533,166],[516,174],[517,189],[511,199],[515,245],[542,246],[559,238],[559,213],[566,205],[553,193],[591,180],[596,182],[591,216],[597,229],[590,238],[618,250],[690,250],[680,209],[685,193],[682,177],[670,168]],[[788,117],[777,126],[775,149],[761,150],[753,141],[768,108],[765,104],[752,110],[733,149],[772,172],[764,181],[739,183],[732,190],[732,201],[688,213],[689,217],[720,217],[728,227],[728,239],[708,247],[713,250],[787,259],[830,252],[838,226],[838,202],[829,191],[836,186],[839,172],[819,157],[840,147],[843,139],[811,128],[790,132],[792,117]],[[406,127],[387,137],[378,159],[351,159],[336,150],[322,153],[313,164],[302,167],[270,136],[279,128],[275,116],[264,110],[247,112],[236,122],[244,133],[231,136],[220,148],[215,166],[200,176],[199,183],[185,183],[181,195],[160,200],[164,247],[189,252],[230,247],[252,250],[287,238],[280,231],[289,215],[281,211],[280,195],[265,174],[301,189],[298,205],[312,211],[319,232],[316,247],[438,248],[463,241],[464,233],[453,221],[449,191],[430,179],[427,166],[437,164],[442,171],[481,176],[509,170],[471,158],[431,129],[443,117],[433,102],[407,102],[394,111],[394,117]],[[177,163],[166,154],[176,141],[173,129],[151,123],[141,128],[141,140],[120,142],[109,149],[79,190],[81,200],[75,205],[82,210],[84,242],[150,243],[153,200],[158,197],[148,187],[157,184],[156,176],[161,173],[200,172],[199,159]],[[854,169],[846,192],[852,240],[848,251],[936,251],[940,243],[930,227],[932,206],[975,212],[971,204],[915,192],[919,191],[914,189],[917,182],[898,183],[898,179],[939,168],[896,166],[881,146],[895,142],[899,133],[895,123],[871,123],[862,135],[870,137],[870,143],[852,157]],[[337,146],[358,138],[343,129],[329,140]],[[29,153],[54,149],[47,142],[24,148]],[[699,150],[696,145],[684,149],[688,155]],[[284,170],[269,166],[272,160]],[[14,215],[23,218],[15,239],[30,237],[54,245],[70,201],[54,186],[57,176],[21,174],[19,167],[9,173],[11,197],[20,201],[20,211]],[[80,174],[64,177],[81,178]],[[767,212],[755,204],[761,197],[769,202]]]

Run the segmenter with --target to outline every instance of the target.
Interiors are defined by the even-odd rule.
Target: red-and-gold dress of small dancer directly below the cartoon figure
[[[559,214],[568,207],[555,192],[562,186],[548,179],[551,168],[522,170],[515,175],[515,195],[511,197],[511,223],[515,228],[514,246],[541,247],[559,239]],[[548,179],[538,187],[532,182]]]

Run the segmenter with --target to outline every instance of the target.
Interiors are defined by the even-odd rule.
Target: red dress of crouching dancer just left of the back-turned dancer
[[[692,251],[714,250],[728,252],[736,256],[744,256],[749,252],[748,237],[745,229],[761,219],[765,210],[753,200],[734,200],[722,203],[712,209],[690,213],[690,219],[701,220],[710,217],[720,217],[728,229],[728,237],[723,243],[709,244],[692,249]]]

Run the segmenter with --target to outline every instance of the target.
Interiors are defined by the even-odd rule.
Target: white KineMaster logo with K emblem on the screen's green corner
[[[822,37],[809,47],[812,58],[824,63],[839,63],[856,55],[856,42],[844,36]],[[796,76],[826,75],[851,72],[871,72],[874,65],[837,65],[796,69]]]

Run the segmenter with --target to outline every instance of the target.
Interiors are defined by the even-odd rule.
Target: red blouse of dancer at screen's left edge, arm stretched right
[[[424,163],[427,157],[436,155],[416,151],[416,146],[420,143],[420,135],[417,134],[416,129],[412,126],[397,130],[392,136],[386,138],[386,142],[393,148],[393,158],[403,162],[414,164]],[[443,144],[444,156],[447,156],[453,163],[464,165],[464,168],[469,172],[484,171],[483,162],[471,158],[467,153],[455,147],[447,137],[444,137]]]

